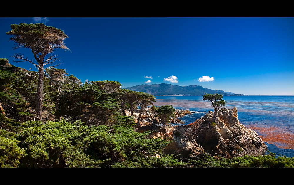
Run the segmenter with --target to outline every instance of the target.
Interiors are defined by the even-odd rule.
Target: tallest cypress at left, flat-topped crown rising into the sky
[[[34,54],[34,58],[37,64],[34,63],[35,60],[29,60],[24,55],[16,53],[14,54],[15,62],[27,61],[34,64],[38,71],[38,90],[37,90],[37,120],[42,120],[42,110],[43,110],[43,81],[44,81],[44,65],[53,63],[57,55],[48,56],[46,55],[53,53],[57,48],[68,50],[64,44],[64,39],[68,36],[60,29],[46,26],[43,23],[39,24],[11,24],[11,31],[6,32],[7,35],[11,35],[11,41],[17,43],[17,48],[29,48]],[[57,65],[55,65],[57,66]],[[55,67],[49,66],[48,68]]]

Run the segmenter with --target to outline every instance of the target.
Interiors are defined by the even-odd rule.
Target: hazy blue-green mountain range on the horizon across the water
[[[168,83],[160,83],[160,84],[152,84],[152,85],[142,84],[142,85],[136,85],[136,86],[128,87],[124,89],[138,91],[138,92],[146,92],[154,96],[160,96],[160,95],[203,96],[204,93],[207,93],[207,94],[218,93],[224,96],[246,96],[246,95],[234,94],[232,92],[225,92],[222,90],[212,90],[212,89],[201,87],[200,85],[180,86],[180,85],[172,85]]]

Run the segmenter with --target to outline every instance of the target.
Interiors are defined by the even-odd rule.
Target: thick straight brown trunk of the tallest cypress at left
[[[44,81],[44,68],[43,65],[39,65],[39,79],[38,79],[38,91],[37,91],[37,121],[42,121],[43,110],[43,81]]]

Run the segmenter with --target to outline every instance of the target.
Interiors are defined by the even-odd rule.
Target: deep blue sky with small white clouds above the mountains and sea
[[[5,33],[10,24],[41,22],[69,36],[65,44],[70,51],[53,53],[61,57],[56,68],[82,82],[114,80],[123,87],[171,83],[245,95],[294,95],[294,18],[2,17],[0,58],[36,70],[31,63],[12,62],[14,53],[33,55],[28,48],[13,50]]]

